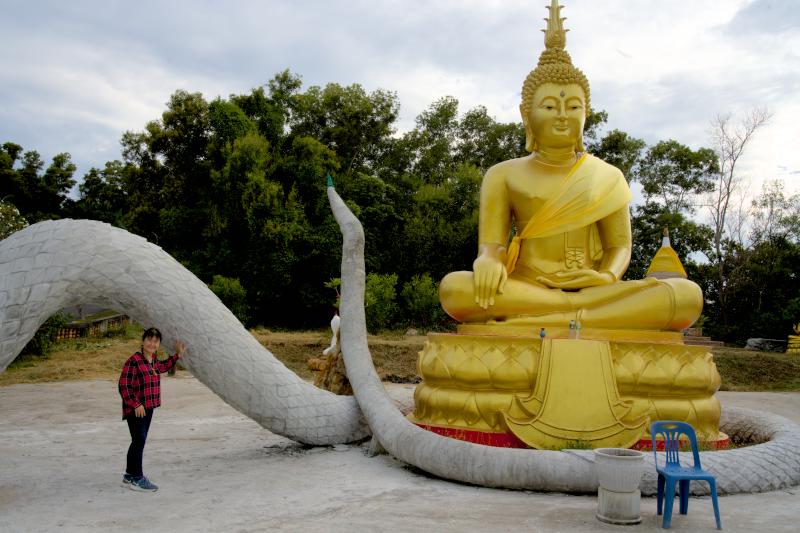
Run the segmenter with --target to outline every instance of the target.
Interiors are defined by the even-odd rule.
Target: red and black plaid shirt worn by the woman
[[[161,405],[161,373],[168,372],[178,362],[178,355],[159,361],[153,357],[148,363],[142,354],[136,352],[125,361],[119,376],[119,395],[122,396],[122,418],[134,409],[144,405],[145,409],[155,409]]]

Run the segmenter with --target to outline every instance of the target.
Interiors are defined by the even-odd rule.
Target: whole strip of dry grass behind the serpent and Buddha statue
[[[319,357],[330,343],[330,330],[270,331],[255,329],[252,335],[288,368],[304,379],[313,374],[307,362]],[[125,336],[66,341],[46,358],[15,361],[0,374],[0,386],[15,383],[108,379],[116,380],[122,364],[139,347],[141,330],[130,328]],[[370,336],[375,368],[381,379],[415,382],[417,352],[425,337]],[[714,348],[714,361],[722,376],[722,390],[800,391],[800,356],[753,352],[740,348]]]

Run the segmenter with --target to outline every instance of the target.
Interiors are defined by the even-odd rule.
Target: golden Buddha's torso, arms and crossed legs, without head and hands
[[[530,164],[529,158],[501,163],[487,173],[481,193],[479,242],[508,244],[505,290],[482,309],[472,272],[453,272],[440,286],[450,316],[473,323],[552,326],[577,320],[584,327],[673,331],[699,316],[702,293],[689,280],[619,281],[630,258],[631,193],[618,169],[584,154],[563,178],[540,178]],[[518,234],[509,244],[512,221]],[[539,279],[586,269],[610,272],[614,281],[561,290]]]

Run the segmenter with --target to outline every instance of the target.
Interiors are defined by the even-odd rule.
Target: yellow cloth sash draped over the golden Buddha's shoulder
[[[600,168],[602,160],[585,153],[569,170],[555,194],[511,240],[506,271],[517,264],[524,239],[550,237],[588,226],[627,205],[631,191],[621,174]]]

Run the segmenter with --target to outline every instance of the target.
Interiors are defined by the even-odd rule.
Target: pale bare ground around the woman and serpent
[[[800,422],[800,393],[720,398]],[[612,526],[595,519],[595,496],[461,485],[370,458],[364,445],[304,447],[191,377],[164,379],[145,450],[158,492],[121,484],[128,442],[114,382],[0,387],[0,531],[661,531],[653,498],[641,524]],[[727,531],[796,531],[800,487],[720,507]],[[676,510],[672,530],[714,530],[710,500]]]

